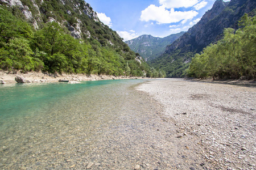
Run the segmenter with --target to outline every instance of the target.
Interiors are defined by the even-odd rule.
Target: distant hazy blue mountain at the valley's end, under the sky
[[[180,32],[164,38],[142,35],[125,42],[129,45],[131,50],[139,53],[146,61],[151,61],[159,57],[164,52],[167,45],[172,44],[172,42],[177,40],[184,33],[185,32]]]

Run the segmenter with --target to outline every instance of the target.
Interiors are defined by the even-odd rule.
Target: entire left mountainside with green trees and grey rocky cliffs
[[[150,67],[85,1],[0,0],[0,70],[142,76]]]

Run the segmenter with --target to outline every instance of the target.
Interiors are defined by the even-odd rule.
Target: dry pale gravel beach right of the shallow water
[[[162,104],[162,120],[175,126],[168,140],[183,158],[176,168],[256,169],[255,83],[161,79],[137,90]]]

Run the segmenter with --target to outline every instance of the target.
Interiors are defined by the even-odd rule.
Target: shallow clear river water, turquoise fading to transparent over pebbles
[[[0,169],[129,169],[156,162],[156,109],[145,80],[0,86]],[[154,132],[152,132],[154,130]],[[156,133],[156,134],[155,134]],[[149,156],[149,157],[148,157]]]

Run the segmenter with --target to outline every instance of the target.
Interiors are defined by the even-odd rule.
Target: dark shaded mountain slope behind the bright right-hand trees
[[[217,0],[196,25],[168,45],[165,52],[152,60],[150,65],[165,70],[168,77],[184,76],[185,69],[196,53],[220,40],[224,28],[237,29],[238,20],[243,14],[255,15],[255,7],[254,0]]]

